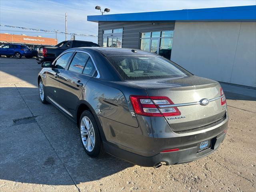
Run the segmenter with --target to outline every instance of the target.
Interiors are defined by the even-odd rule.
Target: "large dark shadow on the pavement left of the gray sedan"
[[[74,185],[134,166],[108,154],[90,158],[76,124],[42,104],[38,88],[1,87],[0,99],[0,180]]]

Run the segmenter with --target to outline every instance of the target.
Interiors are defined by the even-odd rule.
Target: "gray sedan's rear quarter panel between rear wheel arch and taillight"
[[[98,116],[138,127],[136,116],[132,116],[131,106],[124,93],[114,86],[114,83],[91,78],[84,87],[81,100],[86,100]]]

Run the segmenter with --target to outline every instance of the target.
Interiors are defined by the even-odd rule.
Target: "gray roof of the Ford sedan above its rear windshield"
[[[74,48],[73,48],[74,49]],[[75,50],[97,50],[104,54],[104,56],[124,56],[124,55],[156,55],[157,54],[129,48],[110,48],[110,47],[80,47]]]

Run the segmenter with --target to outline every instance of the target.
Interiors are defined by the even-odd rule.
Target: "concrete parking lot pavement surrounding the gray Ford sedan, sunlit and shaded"
[[[79,129],[39,100],[35,58],[0,58],[0,191],[256,191],[256,90],[223,84],[230,116],[217,152],[155,170],[89,158]]]

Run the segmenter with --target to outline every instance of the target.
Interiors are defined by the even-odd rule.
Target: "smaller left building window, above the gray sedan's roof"
[[[103,30],[103,47],[122,47],[123,29]]]

